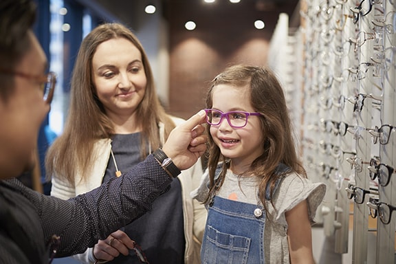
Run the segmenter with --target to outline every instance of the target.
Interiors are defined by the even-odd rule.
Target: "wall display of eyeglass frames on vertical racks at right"
[[[298,127],[309,177],[327,184],[325,235],[336,237],[335,252],[352,252],[353,263],[368,254],[394,263],[396,0],[311,0],[300,8],[301,50],[291,55],[303,75]]]

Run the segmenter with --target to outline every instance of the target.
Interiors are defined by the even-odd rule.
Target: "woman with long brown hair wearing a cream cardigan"
[[[47,153],[51,195],[69,199],[119,177],[161,147],[181,121],[159,103],[136,36],[120,23],[99,25],[81,43],[65,131]],[[153,210],[125,223],[106,239],[111,243],[98,241],[76,258],[83,263],[139,263],[125,247],[132,239],[150,263],[199,263],[206,210],[189,193],[201,174],[197,162],[173,181]]]

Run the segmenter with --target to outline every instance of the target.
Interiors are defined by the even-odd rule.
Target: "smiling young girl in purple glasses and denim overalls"
[[[206,104],[208,170],[192,192],[208,206],[202,263],[314,263],[311,224],[326,186],[298,161],[274,74],[229,67]]]

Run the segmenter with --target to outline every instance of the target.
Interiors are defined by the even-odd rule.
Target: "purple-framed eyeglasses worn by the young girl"
[[[216,109],[205,109],[206,111],[206,122],[212,126],[218,126],[223,118],[226,118],[228,124],[234,129],[241,129],[248,124],[248,118],[250,115],[260,116],[261,113],[249,113],[245,111],[230,111],[223,113]]]

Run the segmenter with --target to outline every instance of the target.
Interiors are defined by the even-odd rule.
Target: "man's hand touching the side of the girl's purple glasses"
[[[206,151],[208,136],[204,134],[205,127],[202,125],[206,122],[205,115],[205,111],[201,110],[176,126],[162,147],[162,151],[180,170],[190,168]]]

